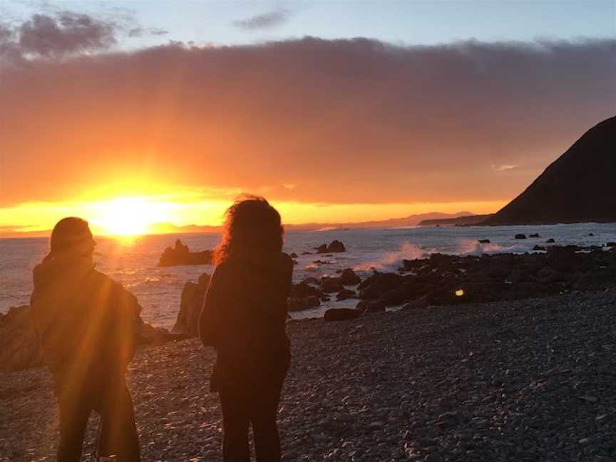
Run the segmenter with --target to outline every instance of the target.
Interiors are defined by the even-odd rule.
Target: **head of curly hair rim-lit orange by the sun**
[[[222,238],[215,250],[215,264],[224,262],[233,252],[281,252],[283,234],[280,214],[267,200],[259,196],[244,196],[225,212]]]

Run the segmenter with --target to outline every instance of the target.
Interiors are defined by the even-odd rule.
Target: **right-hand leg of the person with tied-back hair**
[[[141,457],[133,399],[124,378],[108,384],[97,408],[101,414],[98,455],[116,454],[118,462],[139,462]]]

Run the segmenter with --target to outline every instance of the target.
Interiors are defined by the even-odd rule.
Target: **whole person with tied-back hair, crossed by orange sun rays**
[[[88,222],[64,218],[51,232],[51,252],[34,268],[33,320],[60,412],[58,462],[81,459],[93,410],[101,414],[98,455],[135,462],[140,449],[125,373],[141,308],[94,270],[95,245]]]

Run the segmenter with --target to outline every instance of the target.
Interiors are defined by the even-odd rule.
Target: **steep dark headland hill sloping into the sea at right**
[[[616,117],[595,125],[482,225],[616,222]]]

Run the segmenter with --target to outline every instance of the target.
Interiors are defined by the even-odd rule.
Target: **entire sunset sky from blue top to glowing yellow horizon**
[[[0,235],[494,212],[615,113],[611,0],[5,0]]]

